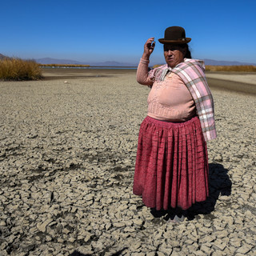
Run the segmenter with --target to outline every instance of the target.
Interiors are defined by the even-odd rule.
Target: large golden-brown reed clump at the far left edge
[[[34,60],[3,58],[0,60],[0,80],[27,81],[42,78],[42,70]]]

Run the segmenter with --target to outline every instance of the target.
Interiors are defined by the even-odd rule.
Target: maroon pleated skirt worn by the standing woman
[[[188,209],[205,201],[208,155],[198,117],[163,122],[146,117],[138,135],[134,194],[156,210]]]

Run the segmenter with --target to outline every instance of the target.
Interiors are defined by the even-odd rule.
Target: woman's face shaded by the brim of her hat
[[[182,48],[178,45],[167,45],[163,46],[164,55],[166,58],[166,63],[171,68],[178,65],[178,63],[183,62],[184,56],[186,54],[186,48]]]

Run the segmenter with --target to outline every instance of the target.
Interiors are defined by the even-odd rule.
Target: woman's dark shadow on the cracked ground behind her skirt
[[[204,202],[197,202],[188,210],[185,211],[185,216],[191,220],[196,218],[198,214],[209,214],[209,218],[214,218],[210,213],[214,211],[215,204],[220,195],[229,196],[231,194],[232,182],[228,176],[228,170],[222,164],[209,164],[209,197]],[[151,214],[156,218],[165,216],[165,219],[172,218],[173,210],[154,210],[151,209]]]

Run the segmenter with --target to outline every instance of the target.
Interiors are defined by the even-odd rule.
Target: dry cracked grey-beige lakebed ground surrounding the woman
[[[149,93],[135,70],[44,74],[0,82],[1,255],[255,255],[252,87],[210,85],[210,198],[174,225],[132,194]]]

